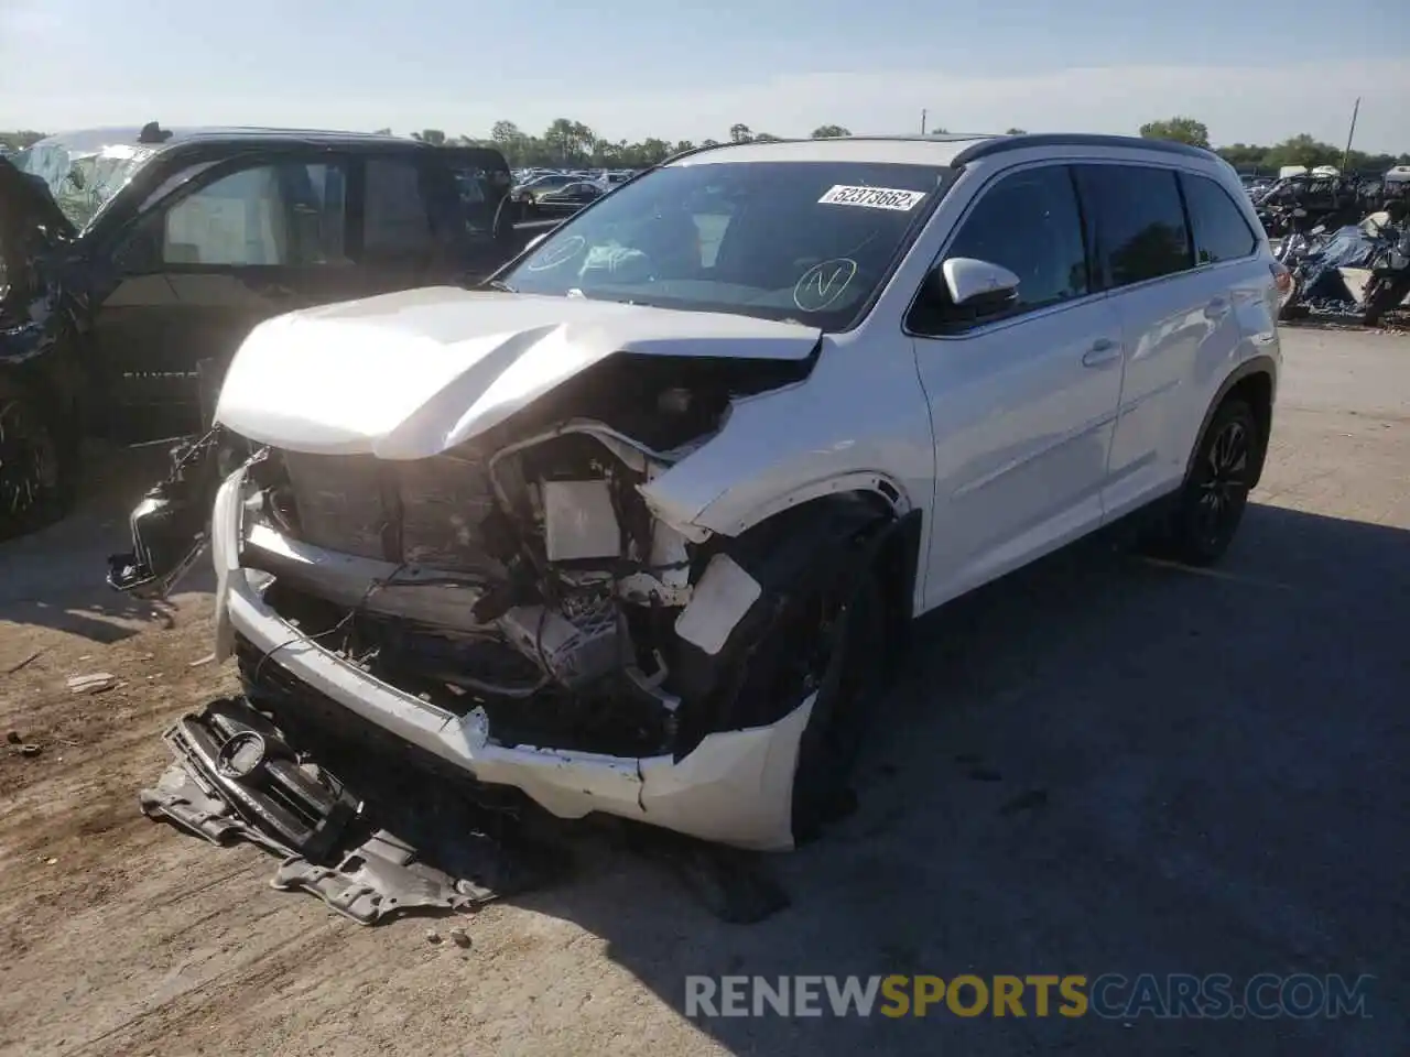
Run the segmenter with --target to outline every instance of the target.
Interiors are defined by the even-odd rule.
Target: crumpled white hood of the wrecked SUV
[[[744,316],[431,288],[261,323],[216,421],[309,454],[426,458],[613,352],[805,359],[822,333]]]

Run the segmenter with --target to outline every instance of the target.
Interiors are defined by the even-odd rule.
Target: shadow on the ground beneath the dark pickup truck
[[[103,581],[107,555],[131,550],[128,513],[168,469],[168,445],[85,452],[78,507],[32,536],[0,544],[0,623],[51,627],[116,643],[145,627],[169,626],[171,605],[121,595]],[[183,592],[210,592],[214,574],[197,565]]]

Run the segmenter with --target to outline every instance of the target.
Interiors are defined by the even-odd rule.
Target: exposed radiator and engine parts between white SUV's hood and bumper
[[[482,707],[501,737],[660,751],[675,702],[657,638],[692,591],[685,538],[634,490],[664,465],[594,421],[406,464],[265,451],[245,565],[323,648],[441,707]],[[290,541],[395,568],[326,579]]]

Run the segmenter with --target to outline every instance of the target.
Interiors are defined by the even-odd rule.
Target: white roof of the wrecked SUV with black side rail
[[[901,165],[966,165],[971,161],[1024,148],[1134,149],[1179,154],[1204,161],[1217,158],[1200,147],[1142,140],[1134,135],[1091,132],[1024,132],[997,135],[962,132],[946,135],[850,135],[828,140],[778,140],[771,142],[722,144],[677,155],[673,165],[718,162],[894,162]]]

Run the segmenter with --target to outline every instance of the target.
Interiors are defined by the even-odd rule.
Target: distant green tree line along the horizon
[[[391,132],[389,128],[379,128],[379,132]],[[1010,128],[1010,134],[1022,132],[1021,128]],[[1193,144],[1196,147],[1210,147],[1210,130],[1203,121],[1193,117],[1170,117],[1160,121],[1149,121],[1141,125],[1141,135],[1148,140],[1173,140],[1176,142]],[[943,128],[932,130],[932,135],[945,134]],[[32,130],[0,132],[0,144],[10,149],[23,149],[44,132]],[[819,125],[814,128],[814,138],[852,135],[850,130],[842,125]],[[567,117],[553,121],[543,132],[534,135],[523,131],[513,121],[495,121],[489,135],[484,138],[470,135],[447,135],[440,128],[423,128],[412,132],[413,140],[446,147],[495,147],[503,152],[505,158],[515,168],[602,168],[602,169],[640,169],[656,165],[674,154],[689,151],[695,147],[713,147],[719,140],[702,140],[698,144],[691,140],[660,140],[647,137],[639,142],[626,140],[608,140],[596,131]],[[770,142],[780,137],[768,132],[756,132],[743,123],[730,125],[725,142]],[[1335,144],[1325,144],[1316,137],[1301,132],[1289,137],[1279,144],[1232,144],[1214,148],[1231,165],[1242,171],[1276,172],[1283,165],[1335,165],[1342,166],[1344,148]],[[1366,154],[1352,151],[1347,159],[1351,171],[1378,172],[1389,169],[1392,165],[1410,165],[1410,154]]]

